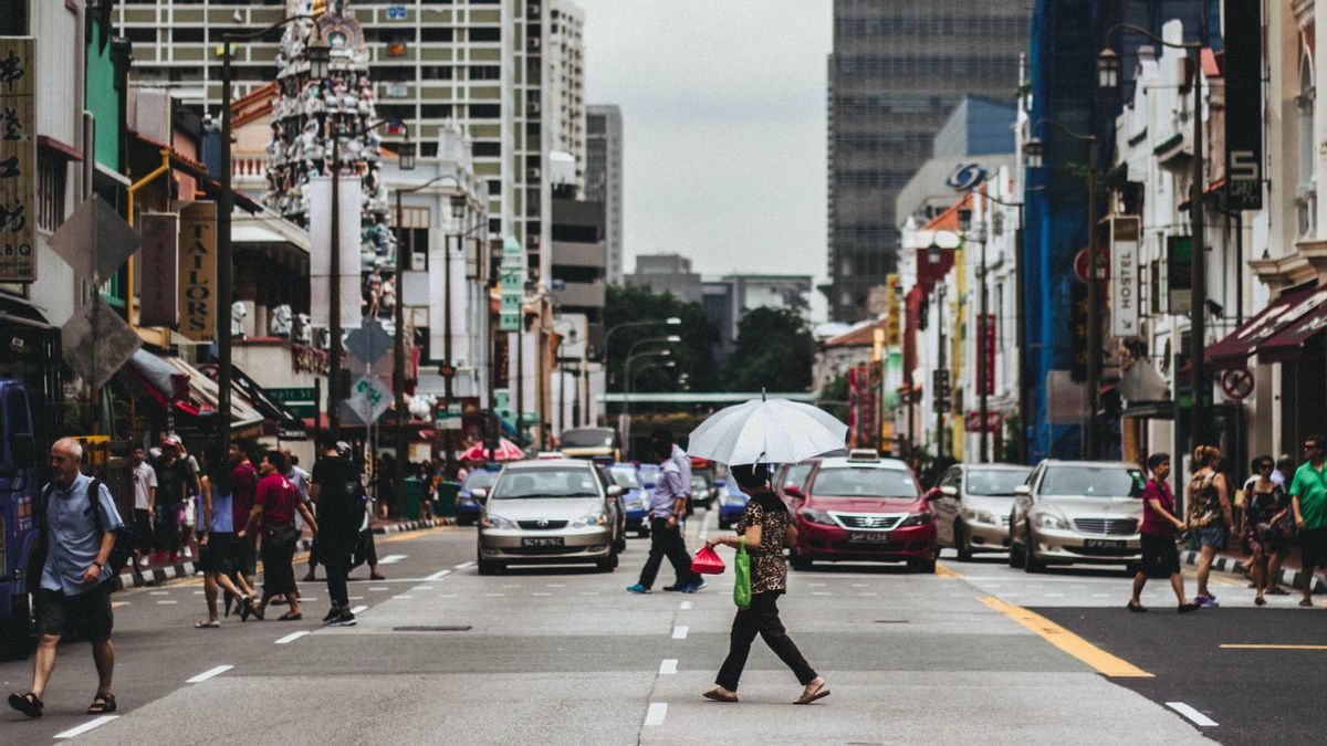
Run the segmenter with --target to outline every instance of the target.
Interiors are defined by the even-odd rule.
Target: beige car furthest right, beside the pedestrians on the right
[[[1015,492],[1009,565],[1123,564],[1143,559],[1143,487],[1135,463],[1043,461]]]

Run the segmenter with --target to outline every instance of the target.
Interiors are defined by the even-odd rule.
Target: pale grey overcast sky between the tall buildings
[[[677,252],[703,275],[819,281],[829,0],[575,1],[587,104],[622,109],[624,269]]]

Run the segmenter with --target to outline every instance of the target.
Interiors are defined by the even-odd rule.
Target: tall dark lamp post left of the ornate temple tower
[[[231,185],[231,44],[249,41],[295,21],[313,21],[317,37],[305,52],[309,77],[326,77],[332,60],[332,46],[322,40],[322,28],[313,16],[289,16],[255,32],[227,32],[222,35],[222,173],[220,204],[216,210],[216,297],[223,313],[216,315],[216,441],[220,453],[231,445],[231,295],[234,295],[235,254],[231,244],[231,211],[235,208],[235,190]]]

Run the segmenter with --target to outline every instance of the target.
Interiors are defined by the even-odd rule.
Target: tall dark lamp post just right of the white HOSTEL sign
[[[1189,285],[1189,388],[1193,404],[1189,408],[1189,445],[1204,443],[1209,437],[1206,430],[1206,397],[1210,386],[1206,384],[1206,312],[1208,312],[1208,268],[1204,242],[1205,215],[1202,204],[1204,161],[1202,161],[1202,44],[1166,41],[1151,31],[1135,24],[1116,24],[1105,32],[1105,48],[1096,58],[1097,85],[1116,88],[1120,84],[1120,57],[1111,49],[1111,37],[1119,31],[1132,31],[1152,41],[1172,49],[1194,53],[1193,65],[1193,162],[1189,175],[1189,222],[1193,246],[1190,247],[1192,271]],[[1178,398],[1178,397],[1177,397]]]

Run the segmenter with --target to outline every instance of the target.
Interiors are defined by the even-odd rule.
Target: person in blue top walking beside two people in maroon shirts
[[[220,450],[204,455],[206,471],[199,482],[202,506],[198,518],[198,564],[203,571],[203,595],[207,600],[207,619],[194,624],[196,629],[216,629],[222,620],[216,613],[216,589],[224,588],[240,603],[243,611],[253,604],[253,589],[236,584],[232,579],[235,559],[235,512],[231,466]],[[230,605],[226,607],[230,616]]]

